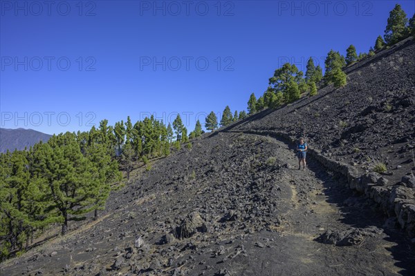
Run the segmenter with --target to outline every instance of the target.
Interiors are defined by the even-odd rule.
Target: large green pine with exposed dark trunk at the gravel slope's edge
[[[98,168],[80,152],[74,134],[54,135],[43,150],[40,170],[49,187],[47,198],[54,203],[65,235],[68,221],[83,219],[82,215],[95,209],[101,179]]]

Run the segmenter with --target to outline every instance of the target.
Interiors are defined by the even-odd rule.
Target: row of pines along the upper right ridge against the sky
[[[285,103],[296,101],[305,92],[308,95],[317,95],[317,88],[322,88],[331,83],[335,88],[340,88],[347,83],[347,75],[343,69],[356,63],[365,57],[372,57],[376,52],[406,39],[409,36],[415,36],[415,14],[411,19],[402,10],[401,6],[396,4],[395,8],[389,13],[387,26],[385,28],[384,39],[378,36],[374,48],[369,49],[369,53],[358,55],[356,47],[351,45],[347,48],[346,57],[340,55],[340,52],[330,50],[324,61],[325,73],[322,74],[322,68],[315,66],[313,58],[308,59],[306,65],[306,74],[298,70],[295,64],[285,63],[281,68],[275,70],[273,77],[269,79],[268,88],[264,94],[257,99],[255,93],[250,95],[248,101],[249,114],[263,110],[264,108],[277,108]]]

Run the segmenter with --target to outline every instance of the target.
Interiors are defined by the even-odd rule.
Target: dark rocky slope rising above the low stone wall
[[[401,41],[344,70],[347,86],[327,86],[315,97],[266,110],[232,130],[304,137],[313,150],[360,172],[380,161],[394,183],[414,167],[414,53],[413,39]]]

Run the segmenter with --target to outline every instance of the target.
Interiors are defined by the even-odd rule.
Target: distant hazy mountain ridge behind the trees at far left
[[[24,150],[39,141],[47,142],[52,135],[25,128],[0,128],[0,152]]]

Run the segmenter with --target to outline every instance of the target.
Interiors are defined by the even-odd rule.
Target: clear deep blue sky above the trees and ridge
[[[282,63],[368,52],[396,3],[412,17],[415,1],[1,0],[0,127],[59,133],[180,112],[192,130],[211,110],[246,109]]]

